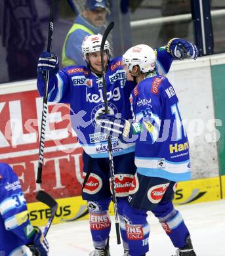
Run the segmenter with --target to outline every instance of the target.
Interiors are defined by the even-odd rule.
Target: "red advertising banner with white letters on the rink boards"
[[[70,107],[49,104],[43,183],[36,184],[43,99],[37,91],[0,95],[0,161],[17,173],[28,202],[37,190],[54,198],[81,194],[82,151],[70,126]]]

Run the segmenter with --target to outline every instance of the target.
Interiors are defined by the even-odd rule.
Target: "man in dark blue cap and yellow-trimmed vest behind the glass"
[[[62,66],[85,65],[81,53],[83,39],[100,33],[106,20],[106,0],[87,0],[85,10],[77,16],[62,49]]]

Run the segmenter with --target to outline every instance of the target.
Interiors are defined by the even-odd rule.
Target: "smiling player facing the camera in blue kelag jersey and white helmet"
[[[171,62],[176,58],[174,47],[184,45],[186,51],[193,49],[190,42],[174,39],[167,49],[158,49],[157,68],[168,72]],[[182,41],[180,41],[182,40]],[[37,87],[41,96],[44,94],[44,75],[49,70],[49,95],[51,102],[70,103],[72,127],[77,133],[79,143],[83,147],[83,182],[82,197],[88,201],[89,221],[94,251],[92,256],[109,256],[108,246],[111,221],[108,208],[112,200],[110,191],[110,166],[108,160],[107,134],[102,133],[97,117],[104,112],[102,86],[102,66],[100,45],[102,35],[85,37],[82,44],[83,58],[87,66],[68,66],[58,68],[58,58],[52,53],[42,53],[37,66]],[[122,57],[110,60],[110,45],[106,41],[104,53],[104,68],[108,109],[110,114],[131,119],[132,113],[129,95],[136,86],[133,81],[127,81],[123,68]],[[176,48],[177,51],[178,48]],[[193,53],[193,51],[192,51]],[[195,51],[195,56],[197,49]],[[85,114],[84,114],[85,113]],[[113,163],[115,171],[115,193],[120,219],[121,237],[124,256],[128,255],[129,247],[123,219],[123,208],[136,173],[134,165],[134,143],[115,138],[112,140]]]

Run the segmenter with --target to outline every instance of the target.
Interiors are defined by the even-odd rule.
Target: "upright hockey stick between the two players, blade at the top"
[[[104,45],[106,43],[106,38],[108,34],[112,30],[114,26],[114,22],[111,22],[108,27],[106,28],[104,35],[102,37],[102,43],[100,47],[101,53],[101,64],[102,64],[102,85],[103,85],[103,98],[104,98],[104,105],[105,105],[105,113],[108,114],[108,100],[107,100],[107,89],[106,89],[106,72],[104,67]],[[117,244],[121,244],[120,242],[120,234],[119,234],[119,217],[118,217],[118,210],[117,210],[117,200],[115,198],[115,175],[114,175],[114,166],[113,166],[113,156],[112,156],[112,141],[111,137],[108,137],[108,154],[110,160],[110,175],[111,175],[111,184],[112,184],[112,200],[113,200],[113,208],[114,208],[114,216],[115,216],[115,230],[116,230],[116,237],[117,237]]]

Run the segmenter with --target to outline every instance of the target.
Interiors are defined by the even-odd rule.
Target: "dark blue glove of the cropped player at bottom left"
[[[33,226],[35,234],[33,235],[33,242],[27,244],[33,255],[46,256],[49,253],[49,243],[41,232],[40,228]]]

